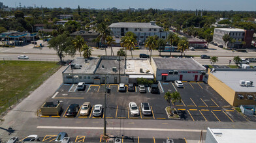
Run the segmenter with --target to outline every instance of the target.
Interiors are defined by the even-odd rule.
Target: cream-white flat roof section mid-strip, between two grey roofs
[[[140,68],[142,68],[142,72],[140,72]],[[146,73],[148,70],[150,72]],[[129,75],[153,75],[153,69],[148,59],[127,59],[125,73]]]

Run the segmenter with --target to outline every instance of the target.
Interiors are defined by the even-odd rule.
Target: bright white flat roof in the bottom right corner
[[[210,129],[218,143],[227,142],[255,142],[256,129]],[[212,140],[213,141],[213,140]]]

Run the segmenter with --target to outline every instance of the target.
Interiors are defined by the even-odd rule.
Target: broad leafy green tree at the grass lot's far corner
[[[65,55],[74,57],[76,53],[76,49],[72,46],[72,38],[67,36],[67,34],[60,34],[57,37],[53,37],[48,42],[48,47],[57,51],[57,56],[61,62]]]

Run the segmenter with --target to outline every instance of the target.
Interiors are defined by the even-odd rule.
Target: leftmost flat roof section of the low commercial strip
[[[97,62],[99,61],[99,58],[89,58],[88,62],[85,62],[84,58],[76,58],[72,62],[72,64],[80,64],[82,67],[80,69],[71,69],[71,66],[69,66],[63,73],[88,73],[93,74],[93,72],[96,69]]]

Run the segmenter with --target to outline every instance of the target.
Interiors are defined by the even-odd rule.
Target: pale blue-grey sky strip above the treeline
[[[182,10],[246,10],[256,11],[255,0],[0,0],[3,5],[9,7],[19,6],[42,6],[48,8],[174,8]]]

